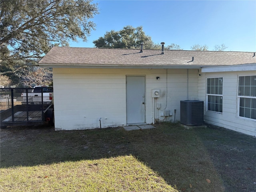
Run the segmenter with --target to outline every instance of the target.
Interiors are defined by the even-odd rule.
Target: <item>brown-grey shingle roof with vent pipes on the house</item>
[[[256,63],[253,52],[53,47],[40,66],[223,66]],[[194,57],[194,61],[192,61]]]

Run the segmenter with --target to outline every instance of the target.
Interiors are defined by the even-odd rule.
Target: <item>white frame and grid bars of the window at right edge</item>
[[[239,95],[239,86],[240,86],[239,78],[240,77],[246,77],[246,76],[252,77],[252,76],[256,76],[256,75],[255,74],[252,74],[252,75],[250,75],[250,74],[248,74],[248,75],[238,75],[238,78],[237,78],[237,117],[238,118],[242,118],[242,119],[246,119],[246,120],[256,121],[256,119],[253,119],[253,118],[248,118],[248,117],[240,116],[240,98],[244,98],[244,99],[249,98],[249,99],[255,99],[256,100],[256,95],[255,96]],[[245,83],[244,83],[243,86],[245,87],[245,86],[248,86],[248,85],[245,85]],[[251,86],[252,85],[250,84],[250,90],[251,90]],[[252,108],[252,105],[250,107],[246,107],[246,106],[242,106],[242,107],[244,109],[245,108],[250,108],[250,110],[254,109],[254,108]]]

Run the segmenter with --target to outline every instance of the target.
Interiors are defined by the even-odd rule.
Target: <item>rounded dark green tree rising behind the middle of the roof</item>
[[[154,44],[151,37],[145,34],[142,26],[137,28],[125,26],[120,31],[111,30],[93,41],[96,47],[106,48],[140,48],[142,42],[145,49],[151,48]]]

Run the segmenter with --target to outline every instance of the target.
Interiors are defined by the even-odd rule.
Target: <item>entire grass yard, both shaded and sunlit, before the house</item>
[[[1,191],[256,191],[256,138],[223,128],[1,130]]]

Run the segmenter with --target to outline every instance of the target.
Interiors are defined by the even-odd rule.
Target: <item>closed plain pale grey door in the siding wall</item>
[[[145,77],[126,76],[127,124],[145,123]]]

